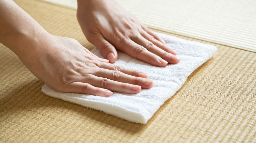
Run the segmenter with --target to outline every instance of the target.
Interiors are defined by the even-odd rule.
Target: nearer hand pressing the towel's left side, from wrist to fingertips
[[[71,38],[51,35],[33,46],[36,52],[22,54],[21,61],[57,91],[108,97],[111,91],[135,94],[153,86],[145,73],[107,63]]]

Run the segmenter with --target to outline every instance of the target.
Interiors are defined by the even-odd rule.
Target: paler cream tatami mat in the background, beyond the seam
[[[43,0],[77,8],[76,0]],[[150,28],[256,52],[255,0],[116,0]]]

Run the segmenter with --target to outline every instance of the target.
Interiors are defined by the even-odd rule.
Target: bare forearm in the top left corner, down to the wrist
[[[17,56],[31,56],[50,35],[12,0],[0,1],[0,42]]]

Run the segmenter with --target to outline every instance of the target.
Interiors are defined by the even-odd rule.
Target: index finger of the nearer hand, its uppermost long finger
[[[132,76],[137,76],[137,77],[142,77],[142,78],[147,78],[148,76],[142,72],[142,71],[138,71],[138,70],[132,70],[132,69],[128,69],[122,66],[118,66],[118,65],[114,65],[114,64],[99,64],[98,65],[99,68],[103,68],[103,69],[108,69],[108,70],[112,70],[112,71],[121,71],[125,74],[129,74]]]

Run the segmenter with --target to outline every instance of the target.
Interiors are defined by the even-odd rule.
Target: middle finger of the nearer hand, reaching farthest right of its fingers
[[[112,70],[102,69],[97,71],[95,75],[98,77],[105,77],[113,81],[129,83],[132,85],[139,85],[142,89],[149,89],[153,87],[152,80],[128,75],[121,71],[112,71]]]

